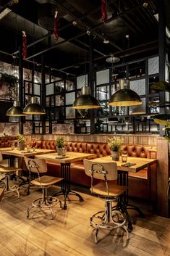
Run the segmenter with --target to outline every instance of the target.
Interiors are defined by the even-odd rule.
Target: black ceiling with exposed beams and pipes
[[[8,3],[0,1],[2,8]],[[165,0],[165,4],[166,25],[170,30],[170,1]],[[108,0],[105,24],[101,17],[101,0],[20,0],[9,8],[12,12],[0,20],[0,52],[6,52],[11,59],[10,55],[18,55],[22,45],[22,30],[27,34],[27,59],[41,63],[43,54],[46,66],[64,73],[88,70],[90,42],[96,69],[111,65],[106,62],[110,54],[125,62],[158,53],[156,0]],[[53,30],[49,30],[54,27],[56,9],[59,16],[57,44]],[[73,25],[73,21],[77,25]],[[103,44],[104,38],[109,44]]]

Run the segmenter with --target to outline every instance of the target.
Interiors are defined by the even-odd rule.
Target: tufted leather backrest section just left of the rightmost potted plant
[[[96,157],[106,157],[111,149],[106,143],[87,143],[87,153],[96,154]]]

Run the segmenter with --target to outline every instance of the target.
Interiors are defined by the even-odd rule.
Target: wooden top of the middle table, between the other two
[[[88,154],[88,153],[78,153],[78,152],[66,152],[65,157],[59,156],[59,154],[41,154],[38,156],[35,156],[35,158],[43,158],[45,160],[51,160],[53,162],[61,162],[61,163],[67,163],[67,162],[75,162],[80,161],[85,158],[93,158],[95,157],[95,154]]]

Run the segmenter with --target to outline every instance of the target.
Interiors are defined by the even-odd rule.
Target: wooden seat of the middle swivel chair
[[[51,186],[62,180],[63,178],[57,178],[53,176],[41,176],[40,180],[39,178],[35,178],[35,180],[31,181],[31,183],[35,186]]]

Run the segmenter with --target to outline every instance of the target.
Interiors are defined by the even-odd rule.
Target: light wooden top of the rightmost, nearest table
[[[153,165],[154,163],[158,162],[156,159],[150,158],[141,158],[141,157],[127,157],[127,162],[134,163],[135,165],[131,167],[124,167],[122,165],[126,164],[127,162],[122,162],[121,157],[119,161],[112,160],[111,156],[108,157],[99,157],[92,160],[93,162],[116,162],[118,170],[124,170],[127,172],[137,173],[139,170],[148,167],[149,165]]]

